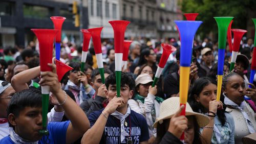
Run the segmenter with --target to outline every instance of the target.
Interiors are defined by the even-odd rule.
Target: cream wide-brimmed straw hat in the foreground
[[[162,124],[164,119],[172,118],[174,114],[180,108],[180,98],[172,97],[163,101],[160,106],[160,114],[159,117],[156,118],[156,122],[153,127],[157,127],[158,124]],[[201,113],[194,112],[189,104],[186,104],[186,116],[195,115],[197,118],[197,123],[199,127],[204,127],[209,123],[209,118]]]

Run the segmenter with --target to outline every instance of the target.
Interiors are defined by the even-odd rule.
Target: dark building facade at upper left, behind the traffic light
[[[67,19],[62,25],[62,35],[74,37],[80,42],[80,28],[88,28],[87,1],[80,0],[82,4],[82,27],[74,26],[74,18],[70,11],[69,0],[1,0],[0,2],[0,46],[26,46],[35,39],[30,29],[53,29],[51,16],[64,16]]]

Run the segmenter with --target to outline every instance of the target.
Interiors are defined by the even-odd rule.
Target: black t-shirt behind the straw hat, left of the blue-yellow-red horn
[[[179,93],[180,90],[180,76],[177,72],[168,74],[164,79],[163,92],[166,94],[166,99],[170,95]]]

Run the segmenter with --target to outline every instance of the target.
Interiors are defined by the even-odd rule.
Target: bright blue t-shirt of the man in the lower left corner
[[[50,144],[54,143],[66,143],[66,132],[68,129],[70,121],[66,122],[51,122],[47,125],[47,129],[49,131],[49,137]],[[38,141],[39,144],[43,144],[47,142],[47,136],[44,135],[42,138]],[[14,143],[10,136],[6,136],[3,139],[0,140],[0,143]]]

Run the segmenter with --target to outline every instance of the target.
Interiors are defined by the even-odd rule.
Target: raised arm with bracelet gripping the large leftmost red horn
[[[56,66],[48,64],[52,67],[53,72],[47,71],[41,73],[40,85],[49,85],[50,91],[55,95],[58,102],[62,105],[67,117],[71,123],[66,133],[66,143],[72,143],[81,137],[90,127],[89,120],[82,109],[61,89],[56,74]]]

